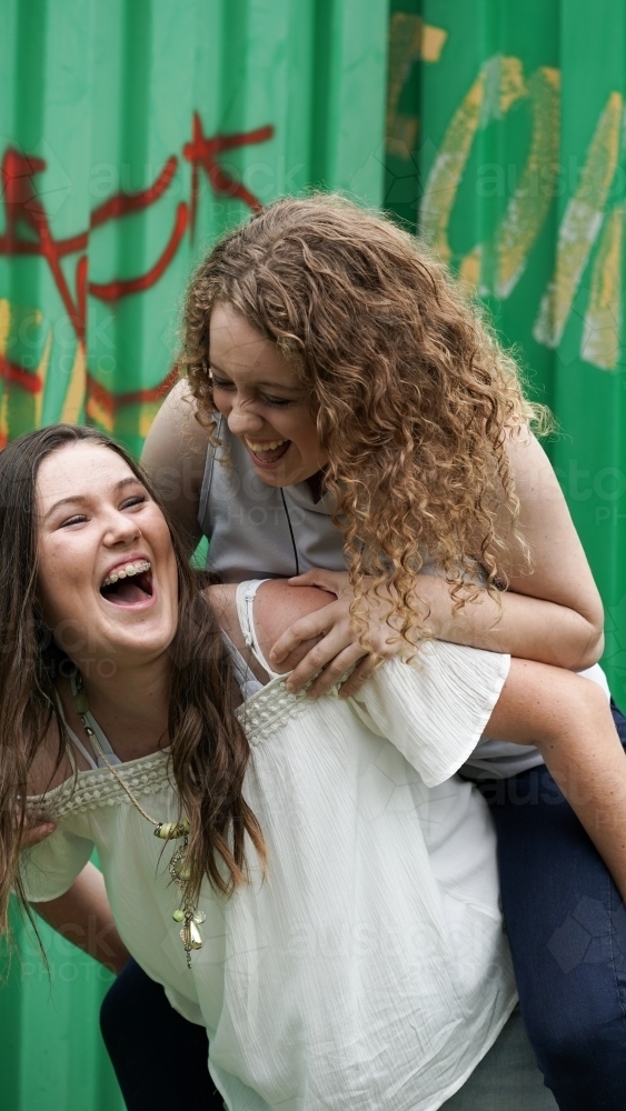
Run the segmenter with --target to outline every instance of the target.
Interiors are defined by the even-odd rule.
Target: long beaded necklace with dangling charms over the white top
[[[202,911],[198,911],[197,908],[189,902],[187,895],[187,883],[190,875],[189,864],[187,862],[189,819],[183,818],[180,822],[159,822],[155,818],[151,818],[146,810],[143,810],[143,807],[139,800],[135,798],[135,794],[128,787],[128,783],[125,782],[123,777],[120,775],[115,765],[109,763],[107,760],[98,737],[96,735],[96,731],[89,724],[89,701],[87,699],[87,694],[85,693],[80,671],[76,671],[71,677],[71,690],[73,708],[80,718],[89,742],[109,769],[111,775],[115,775],[122,790],[126,791],[126,794],[132,802],[132,805],[139,811],[141,817],[146,819],[146,821],[150,822],[151,825],[155,825],[155,837],[160,838],[161,841],[178,841],[182,838],[182,844],[179,845],[172,853],[168,869],[173,882],[181,892],[181,905],[175,910],[172,918],[175,922],[182,922],[180,940],[182,941],[182,947],[187,957],[187,968],[190,969],[192,951],[195,949],[202,948],[202,935],[199,927],[205,921],[206,915]]]

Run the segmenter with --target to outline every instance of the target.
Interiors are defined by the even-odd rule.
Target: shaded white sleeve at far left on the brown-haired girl
[[[58,899],[71,888],[93,852],[93,843],[57,829],[20,855],[20,877],[29,902]]]

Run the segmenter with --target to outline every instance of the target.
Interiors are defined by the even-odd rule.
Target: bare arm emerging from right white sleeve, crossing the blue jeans
[[[602,689],[513,660],[485,735],[537,745],[626,899],[626,754]]]

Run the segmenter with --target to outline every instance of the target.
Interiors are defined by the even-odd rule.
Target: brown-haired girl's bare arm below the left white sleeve
[[[101,872],[86,864],[69,891],[33,909],[73,945],[112,972],[121,972],[129,953],[111,914]]]

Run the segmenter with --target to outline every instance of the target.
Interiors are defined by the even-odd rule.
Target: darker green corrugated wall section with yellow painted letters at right
[[[626,705],[620,0],[394,0],[386,204],[519,348],[606,610]]]

